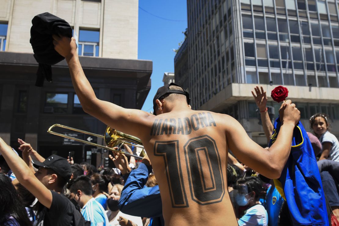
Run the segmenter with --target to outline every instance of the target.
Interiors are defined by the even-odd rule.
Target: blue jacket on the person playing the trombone
[[[119,209],[128,215],[152,218],[152,226],[164,225],[159,186],[145,186],[151,172],[150,166],[140,163],[129,176],[126,175],[128,178],[124,178],[126,182],[121,191]]]

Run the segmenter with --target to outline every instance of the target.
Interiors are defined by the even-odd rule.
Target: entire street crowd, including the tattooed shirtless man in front
[[[307,135],[300,111],[286,100],[273,125],[266,92],[255,87],[264,148],[234,118],[192,110],[190,95],[175,83],[158,89],[153,115],[125,109],[96,98],[74,38],[52,37],[84,111],[139,137],[147,155],[137,163],[113,151],[115,167],[97,169],[43,158],[18,139],[21,158],[0,138],[0,225],[325,226],[337,220],[339,144],[326,115],[311,117]],[[300,185],[304,191],[295,189]]]

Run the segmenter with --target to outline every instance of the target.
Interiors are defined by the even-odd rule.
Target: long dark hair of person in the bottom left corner
[[[32,225],[11,179],[3,173],[0,173],[0,188],[0,225],[5,225],[10,216],[14,217],[20,225]]]

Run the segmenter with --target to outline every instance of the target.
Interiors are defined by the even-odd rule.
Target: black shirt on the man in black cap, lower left
[[[64,226],[64,225],[78,225],[79,222],[75,222],[75,219],[81,219],[82,214],[75,208],[75,205],[67,199],[63,194],[58,192],[52,192],[52,205],[51,208],[46,207],[42,210],[39,218],[43,219],[43,222],[38,225],[44,226]],[[75,218],[74,216],[78,216]],[[40,219],[38,220],[38,222]]]

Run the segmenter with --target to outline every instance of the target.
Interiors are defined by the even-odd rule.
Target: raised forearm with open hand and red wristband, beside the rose
[[[261,91],[260,91],[261,89]],[[266,96],[266,91],[264,91],[264,89],[262,88],[262,86],[259,87],[255,87],[254,91],[256,92],[256,94],[254,94],[254,92],[252,91],[252,95],[254,97],[254,100],[257,104],[257,106],[259,107],[259,111],[260,111],[260,118],[261,118],[261,122],[262,122],[262,128],[264,129],[264,133],[265,136],[267,138],[267,143],[270,142],[271,139],[271,135],[273,132],[273,124],[272,121],[270,119],[270,116],[268,115],[267,112],[267,96]]]

